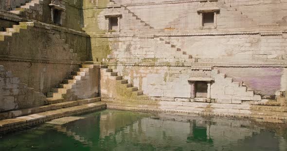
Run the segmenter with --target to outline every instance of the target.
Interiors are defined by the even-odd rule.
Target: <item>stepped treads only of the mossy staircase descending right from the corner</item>
[[[118,76],[117,72],[113,72],[112,69],[108,69],[107,66],[102,66],[100,70],[101,73],[104,73],[106,76],[109,76],[109,78],[116,80],[116,83],[119,84],[122,89],[131,93],[131,96],[143,95],[142,90],[139,90],[138,87],[133,87],[132,83],[128,83],[128,80],[123,79],[123,76]]]

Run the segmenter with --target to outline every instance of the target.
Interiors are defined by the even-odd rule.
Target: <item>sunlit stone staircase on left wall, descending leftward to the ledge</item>
[[[94,68],[94,65],[82,64],[81,68],[78,68],[77,71],[72,72],[70,76],[67,76],[67,78],[64,79],[62,83],[58,84],[56,88],[52,89],[52,92],[47,93],[48,98],[46,99],[46,104],[84,99],[85,97],[96,97],[84,96],[84,91],[79,90],[79,88],[85,88],[83,82],[90,78],[90,72],[92,68]]]

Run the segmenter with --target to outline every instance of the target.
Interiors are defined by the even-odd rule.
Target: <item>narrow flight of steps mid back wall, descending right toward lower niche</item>
[[[170,42],[165,41],[164,39],[155,36],[154,38],[155,40],[158,40],[159,43],[165,44],[168,47],[171,47],[174,50],[174,58],[183,58],[188,60],[189,62],[194,62],[194,59],[192,58],[192,55],[188,55],[186,53],[186,51],[181,51],[181,49],[179,47],[177,47],[176,45],[172,45],[170,44]]]

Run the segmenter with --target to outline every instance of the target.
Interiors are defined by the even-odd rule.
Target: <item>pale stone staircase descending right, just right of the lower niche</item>
[[[254,101],[254,103],[261,101],[261,96],[255,95],[254,91],[248,89],[243,82],[235,82],[233,78],[227,77],[226,74],[219,73],[219,70],[214,69],[211,73],[215,80],[215,83],[213,83],[211,87],[213,87],[214,90],[218,90],[211,92],[211,98],[218,98],[218,95],[220,95],[217,103],[224,103],[220,102],[220,100],[231,100],[232,104],[241,104],[242,101]],[[222,88],[224,88],[224,90],[222,90]]]

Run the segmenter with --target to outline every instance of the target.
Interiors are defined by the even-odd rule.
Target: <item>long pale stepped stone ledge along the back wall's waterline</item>
[[[250,104],[218,104],[170,101],[116,101],[106,102],[108,109],[143,112],[187,113],[200,116],[248,118],[253,121],[287,123],[287,106],[263,106]]]

